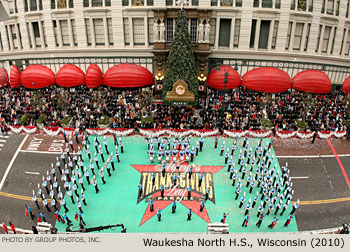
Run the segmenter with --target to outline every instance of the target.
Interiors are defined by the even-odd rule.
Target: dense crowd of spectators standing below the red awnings
[[[326,95],[296,90],[264,94],[244,88],[208,88],[197,106],[152,102],[152,88],[101,86],[40,90],[0,89],[0,120],[8,125],[97,128],[181,128],[260,130],[345,130],[350,99],[343,91]]]

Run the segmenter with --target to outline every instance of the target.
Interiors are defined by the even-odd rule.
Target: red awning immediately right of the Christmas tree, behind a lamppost
[[[208,86],[215,89],[225,89],[225,73],[227,75],[226,89],[233,89],[241,85],[241,76],[230,66],[220,66],[220,70],[214,68],[208,75]]]

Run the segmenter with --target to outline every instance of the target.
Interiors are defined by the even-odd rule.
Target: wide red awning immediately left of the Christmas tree
[[[144,87],[153,84],[153,74],[136,64],[119,64],[107,70],[103,83],[119,88]]]

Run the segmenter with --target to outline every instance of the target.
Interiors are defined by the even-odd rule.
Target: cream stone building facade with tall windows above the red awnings
[[[262,66],[291,77],[324,71],[333,84],[350,76],[350,0],[189,0],[185,9],[198,75],[217,63],[243,75]],[[0,22],[0,67],[67,63],[103,72],[136,63],[164,73],[177,0],[8,0]]]

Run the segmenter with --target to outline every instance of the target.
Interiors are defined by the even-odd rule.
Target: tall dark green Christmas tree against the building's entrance
[[[196,63],[192,51],[188,23],[184,9],[181,9],[176,19],[175,36],[171,45],[163,85],[163,97],[171,91],[173,84],[183,80],[189,90],[197,97],[198,80]]]

